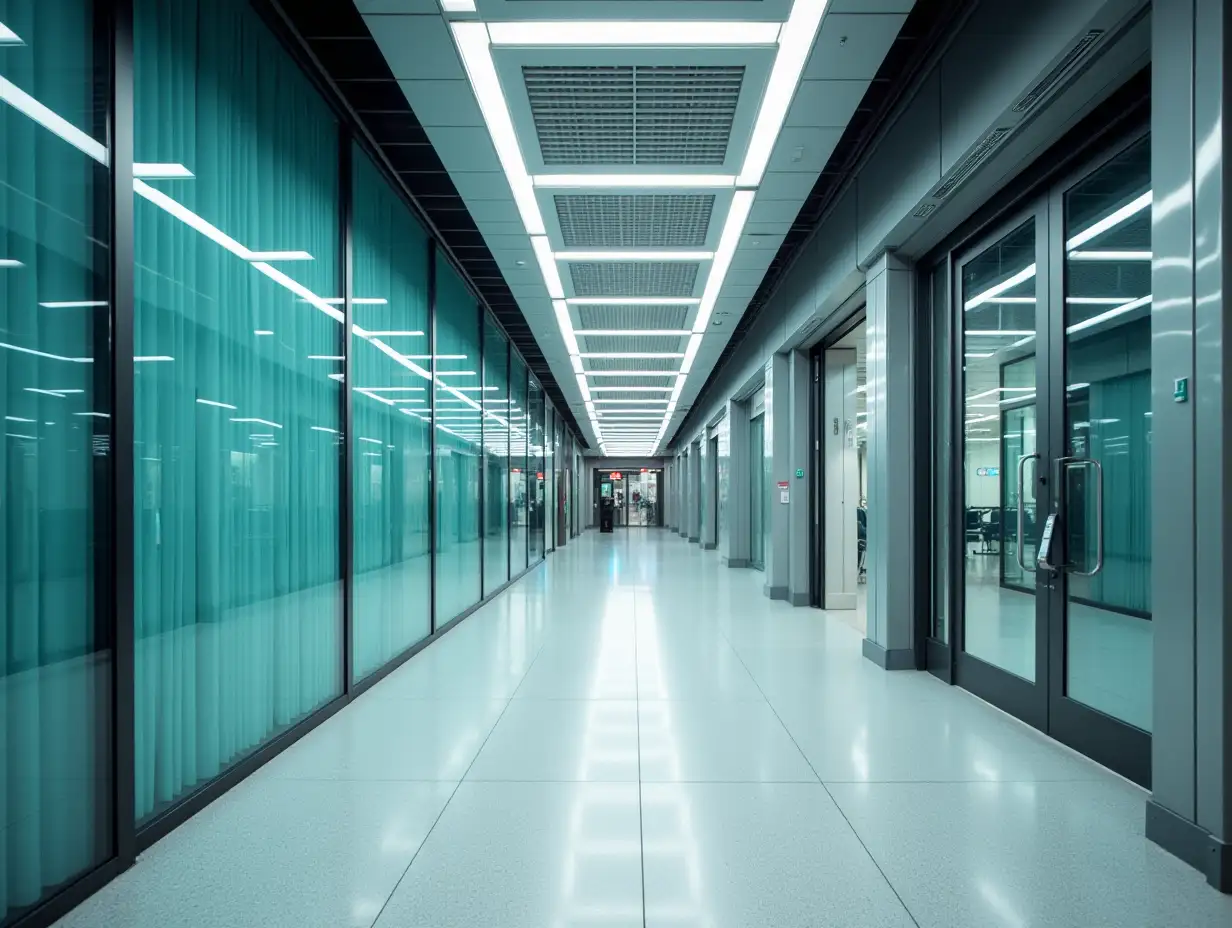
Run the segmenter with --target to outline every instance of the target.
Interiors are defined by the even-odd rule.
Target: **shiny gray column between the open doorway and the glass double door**
[[[869,468],[869,613],[864,653],[887,670],[915,667],[913,649],[914,274],[886,253],[865,286]]]

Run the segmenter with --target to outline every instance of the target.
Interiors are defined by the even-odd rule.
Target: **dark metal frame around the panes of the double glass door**
[[[1031,221],[1035,223],[1036,261],[1036,450],[1037,467],[1030,474],[1037,482],[1039,518],[1061,513],[1063,500],[1055,479],[1057,458],[1067,455],[1066,431],[1066,260],[1064,260],[1064,196],[1078,182],[1090,176],[1108,161],[1122,154],[1148,132],[1147,126],[1121,136],[1096,155],[1083,159],[1078,166],[1051,179],[1045,190],[1019,210],[987,226],[978,237],[951,250],[947,267],[947,302],[935,307],[949,313],[947,350],[950,365],[950,423],[952,455],[950,465],[950,616],[949,647],[930,648],[929,663],[945,662],[947,667],[930,667],[952,682],[971,690],[981,699],[1021,718],[1050,737],[1073,747],[1124,776],[1149,788],[1151,733],[1136,728],[1066,694],[1067,680],[1067,610],[1068,573],[1057,571],[1036,574],[1035,583],[1035,669],[1032,683],[970,654],[966,648],[966,442],[963,438],[965,372],[963,372],[963,266],[982,255],[989,246],[1014,229]],[[1004,455],[1002,441],[1000,454]],[[1003,461],[1003,479],[1016,479],[1018,461]],[[1032,468],[1027,467],[1027,471]],[[1004,498],[1004,495],[1003,495]],[[1005,514],[1002,514],[1002,547],[1007,542]],[[1053,563],[1066,562],[1064,530],[1060,525],[1053,536],[1057,546]],[[930,638],[933,643],[936,643]]]

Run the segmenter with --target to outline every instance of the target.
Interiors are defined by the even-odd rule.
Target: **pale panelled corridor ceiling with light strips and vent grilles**
[[[355,5],[582,434],[652,455],[913,1]]]

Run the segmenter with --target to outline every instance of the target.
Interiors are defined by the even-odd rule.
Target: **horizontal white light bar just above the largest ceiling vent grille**
[[[800,0],[796,5],[800,5]],[[772,46],[779,41],[779,30],[777,22],[734,20],[719,22],[531,20],[488,23],[494,46]]]

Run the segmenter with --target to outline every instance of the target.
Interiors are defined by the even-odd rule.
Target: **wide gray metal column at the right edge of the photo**
[[[1152,797],[1147,837],[1232,892],[1230,14],[1152,10]],[[1168,101],[1168,105],[1162,105]],[[1190,401],[1174,402],[1189,377]]]

